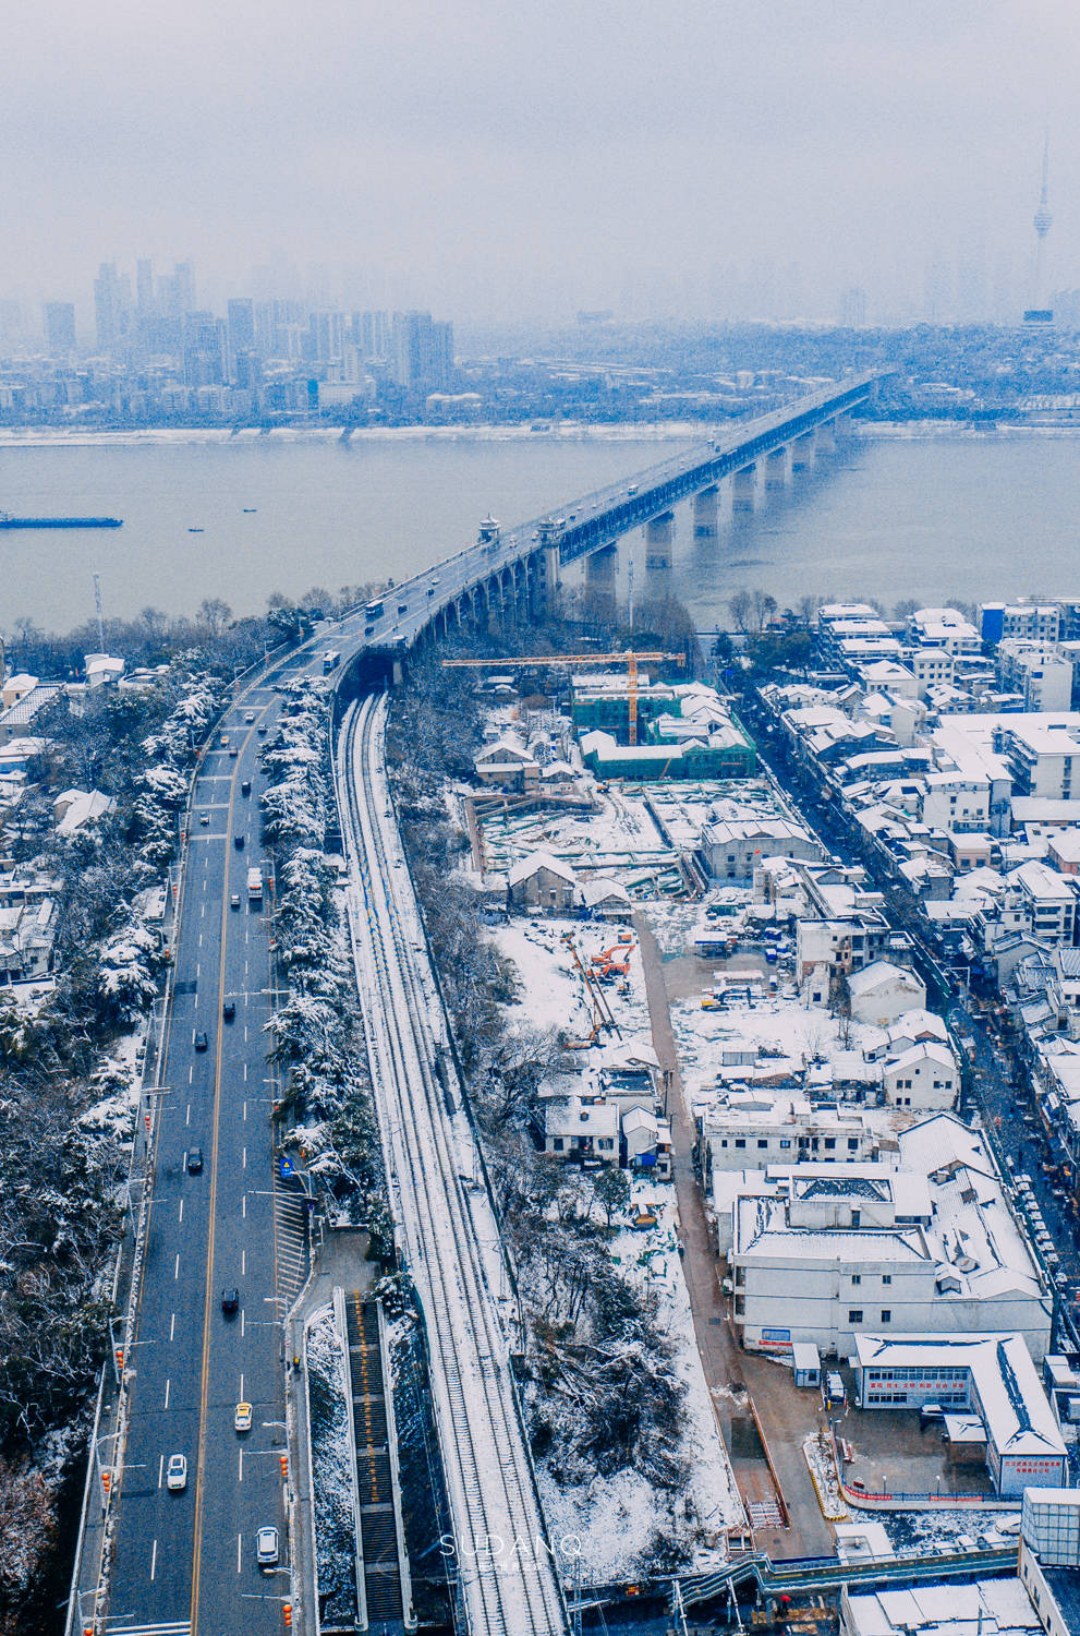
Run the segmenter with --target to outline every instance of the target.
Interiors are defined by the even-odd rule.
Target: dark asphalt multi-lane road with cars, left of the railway
[[[245,715],[255,713],[247,723]],[[278,1633],[284,1572],[263,1574],[255,1533],[279,1530],[283,1562],[284,1371],[278,1302],[302,1253],[297,1217],[274,1211],[271,1091],[265,1024],[271,1013],[266,905],[250,905],[247,870],[261,861],[257,764],[278,695],[248,694],[214,735],[194,785],[176,923],[175,985],[160,1058],[155,1175],[134,1332],[131,1428],[116,1503],[111,1636]],[[222,748],[225,735],[239,754]],[[242,782],[252,793],[242,793]],[[206,815],[208,823],[201,823]],[[242,834],[239,851],[234,838]],[[237,893],[240,906],[232,908]],[[224,1005],[235,1005],[225,1021]],[[194,1037],[206,1034],[208,1049]],[[188,1153],[203,1170],[188,1173]],[[278,1219],[278,1220],[276,1220]],[[278,1230],[274,1227],[278,1225]],[[239,1312],[222,1312],[237,1288]],[[234,1430],[253,1405],[247,1435]],[[188,1485],[170,1494],[165,1466],[185,1454]],[[108,1464],[111,1448],[101,1453]]]

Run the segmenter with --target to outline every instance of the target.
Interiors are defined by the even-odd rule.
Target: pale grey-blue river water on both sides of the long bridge
[[[266,596],[402,579],[474,535],[493,510],[524,520],[676,453],[675,438],[618,429],[575,437],[96,438],[0,443],[0,509],[109,514],[113,532],[0,533],[0,630],[29,617],[67,630],[93,612],[193,612],[222,597],[237,614]],[[693,538],[680,507],[667,586],[703,628],[740,586],[781,605],[804,594],[975,602],[1080,594],[1080,438],[1054,435],[856,437],[753,517]],[[199,528],[201,533],[188,530]],[[621,582],[640,535],[619,551]],[[655,582],[665,589],[665,576]]]

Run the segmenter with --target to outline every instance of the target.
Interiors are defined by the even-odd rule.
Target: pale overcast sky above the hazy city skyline
[[[1047,283],[1080,283],[1077,0],[3,10],[0,296],[152,255],[212,301],[325,263],[451,317],[1023,303],[1047,124]]]

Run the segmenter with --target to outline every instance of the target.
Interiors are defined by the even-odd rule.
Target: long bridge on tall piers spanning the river
[[[510,530],[489,517],[474,545],[386,594],[364,623],[366,641],[400,649],[464,625],[542,618],[572,563],[585,563],[587,582],[614,591],[619,540],[636,528],[645,530],[645,573],[660,587],[672,568],[676,506],[691,502],[694,538],[716,538],[724,483],[734,515],[753,512],[761,496],[786,488],[835,447],[851,411],[869,402],[887,375],[866,370],[832,381]]]

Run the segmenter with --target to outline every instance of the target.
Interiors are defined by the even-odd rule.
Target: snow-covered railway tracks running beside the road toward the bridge
[[[431,1394],[454,1520],[459,1602],[472,1636],[565,1633],[485,1243],[487,1194],[466,1193],[472,1134],[435,1073],[446,1039],[384,771],[386,699],[350,707],[338,805],[350,926],[402,1258],[426,1322]],[[448,1101],[451,1106],[448,1106]]]

